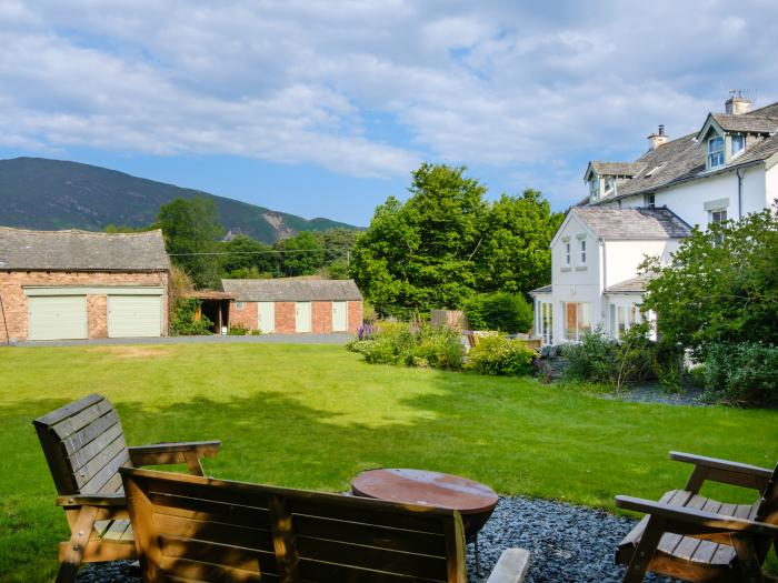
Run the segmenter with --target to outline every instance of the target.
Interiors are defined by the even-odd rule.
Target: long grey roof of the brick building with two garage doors
[[[167,271],[162,231],[98,233],[0,227],[0,269],[47,271]]]

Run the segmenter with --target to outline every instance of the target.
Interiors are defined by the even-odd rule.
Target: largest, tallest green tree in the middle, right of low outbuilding
[[[355,243],[352,274],[382,314],[458,308],[475,289],[486,187],[445,164],[421,164],[412,177],[410,199],[390,197]]]

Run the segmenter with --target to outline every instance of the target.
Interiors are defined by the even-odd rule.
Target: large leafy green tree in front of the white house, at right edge
[[[695,228],[668,265],[642,264],[654,277],[644,308],[662,339],[705,358],[717,342],[778,344],[778,203],[738,222]]]

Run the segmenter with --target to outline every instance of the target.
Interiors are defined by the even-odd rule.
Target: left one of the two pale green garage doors
[[[87,296],[53,295],[27,299],[30,340],[87,338]]]

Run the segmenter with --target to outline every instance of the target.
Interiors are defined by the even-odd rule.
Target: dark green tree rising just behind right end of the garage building
[[[217,240],[225,232],[212,199],[176,199],[159,209],[154,227],[162,229],[170,260],[180,265],[198,288],[219,282]]]

